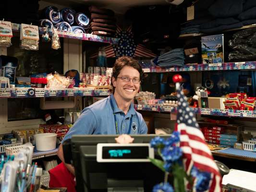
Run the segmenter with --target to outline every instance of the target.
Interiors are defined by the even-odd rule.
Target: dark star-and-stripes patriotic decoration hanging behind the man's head
[[[117,26],[116,38],[119,38],[118,44],[106,46],[105,53],[106,57],[146,57],[146,58],[155,58],[157,55],[154,54],[151,50],[147,49],[144,45],[134,43],[134,35],[132,32],[132,26],[127,29],[121,29]],[[98,53],[95,53],[91,58],[98,57]]]

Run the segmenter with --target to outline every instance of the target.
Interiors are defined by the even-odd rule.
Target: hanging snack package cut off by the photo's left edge
[[[10,47],[12,45],[12,23],[0,21],[0,46]]]

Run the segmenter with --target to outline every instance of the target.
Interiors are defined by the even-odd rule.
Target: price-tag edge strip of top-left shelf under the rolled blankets
[[[19,32],[21,30],[21,24],[13,24],[12,23],[12,31]],[[38,27],[39,34],[45,33],[43,31],[43,27]],[[52,34],[51,29],[48,30],[49,34]],[[96,36],[92,34],[85,34],[85,33],[75,33],[75,32],[68,32],[68,31],[62,31],[58,30],[58,34],[60,37],[64,38],[72,38],[72,39],[80,39],[85,41],[94,41],[94,42],[101,42],[101,43],[110,43],[110,44],[117,44],[119,41],[119,38],[113,38],[108,36]]]

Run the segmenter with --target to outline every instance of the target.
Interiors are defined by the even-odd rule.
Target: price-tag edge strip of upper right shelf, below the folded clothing
[[[144,72],[199,72],[199,71],[222,71],[222,70],[254,70],[256,61],[210,63],[210,64],[186,64],[183,67],[150,67],[143,68]]]

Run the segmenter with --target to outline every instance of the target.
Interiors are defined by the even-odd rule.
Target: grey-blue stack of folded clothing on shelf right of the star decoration
[[[184,49],[175,48],[153,60],[159,67],[182,67],[184,65]]]

